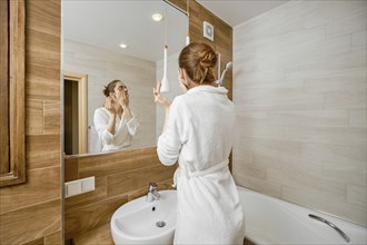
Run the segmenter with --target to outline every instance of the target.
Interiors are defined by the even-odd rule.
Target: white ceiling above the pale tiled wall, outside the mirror
[[[269,11],[286,0],[197,0],[206,9],[226,21],[229,26],[236,27],[264,12]]]

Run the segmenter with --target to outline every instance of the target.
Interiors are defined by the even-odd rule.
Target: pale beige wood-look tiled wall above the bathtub
[[[366,226],[366,1],[289,1],[234,53],[236,182]]]

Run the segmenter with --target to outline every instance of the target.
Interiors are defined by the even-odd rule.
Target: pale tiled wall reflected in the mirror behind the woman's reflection
[[[135,147],[150,147],[156,143],[156,105],[151,89],[156,85],[156,63],[110,51],[96,46],[66,39],[63,42],[63,71],[88,76],[88,125],[93,125],[95,110],[105,101],[103,86],[113,79],[126,82],[131,109],[140,121]]]

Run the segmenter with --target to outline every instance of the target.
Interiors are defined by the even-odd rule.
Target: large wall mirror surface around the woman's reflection
[[[99,153],[93,115],[106,100],[105,86],[113,79],[128,87],[129,105],[140,124],[129,149],[155,146],[162,119],[157,117],[161,111],[152,88],[162,79],[167,39],[167,97],[179,94],[177,59],[188,32],[186,12],[161,0],[62,1],[61,9],[65,153]],[[161,13],[162,20],[153,21],[153,13]]]

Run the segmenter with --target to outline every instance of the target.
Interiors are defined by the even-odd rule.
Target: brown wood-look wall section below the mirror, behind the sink
[[[119,206],[146,195],[150,182],[160,189],[171,188],[177,167],[161,165],[156,147],[67,157],[65,166],[68,180],[96,177],[93,192],[66,198],[67,241],[108,224]]]

